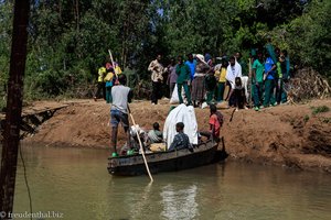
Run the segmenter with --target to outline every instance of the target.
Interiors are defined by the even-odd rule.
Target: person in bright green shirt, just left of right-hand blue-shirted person
[[[254,89],[254,109],[259,110],[264,87],[265,66],[261,51],[257,52],[257,59],[253,63],[253,89]]]

